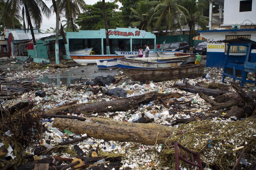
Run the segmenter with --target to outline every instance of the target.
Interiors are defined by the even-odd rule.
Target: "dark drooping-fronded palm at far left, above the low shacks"
[[[26,21],[28,23],[28,29],[30,28],[35,54],[38,58],[36,40],[32,23],[40,28],[43,21],[43,15],[50,17],[50,9],[46,6],[43,0],[7,0],[6,1],[5,16],[12,16],[13,14],[22,13],[23,29],[26,30]]]

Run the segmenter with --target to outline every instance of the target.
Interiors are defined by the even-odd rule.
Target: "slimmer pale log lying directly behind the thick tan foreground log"
[[[86,118],[88,119],[88,118]],[[99,123],[99,124],[105,124],[105,125],[117,125],[117,126],[125,126],[125,127],[135,127],[135,128],[146,128],[146,129],[152,129],[156,132],[168,134],[172,133],[177,130],[177,128],[168,127],[164,125],[159,125],[155,123],[149,123],[149,124],[141,124],[141,123],[131,123],[131,122],[118,122],[113,121],[110,119],[104,119],[104,118],[97,118],[97,117],[90,117],[89,119],[92,120],[93,123]]]

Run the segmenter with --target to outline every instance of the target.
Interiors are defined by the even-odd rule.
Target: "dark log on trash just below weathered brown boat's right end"
[[[193,86],[187,81],[184,81],[183,83],[174,83],[173,87],[176,87],[180,90],[191,92],[194,94],[202,92],[207,96],[213,96],[213,97],[217,97],[217,96],[226,94],[228,92],[226,90],[215,90],[215,89],[208,89],[200,86]]]

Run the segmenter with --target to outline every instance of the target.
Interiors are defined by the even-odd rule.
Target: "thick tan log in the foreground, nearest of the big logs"
[[[104,125],[92,122],[82,122],[78,120],[55,118],[53,127],[61,130],[67,129],[78,134],[86,133],[89,137],[104,140],[116,140],[121,142],[140,142],[145,145],[162,143],[165,134],[156,132],[154,129],[137,128],[133,126]],[[136,125],[134,123],[134,125]],[[143,124],[144,125],[144,124]]]

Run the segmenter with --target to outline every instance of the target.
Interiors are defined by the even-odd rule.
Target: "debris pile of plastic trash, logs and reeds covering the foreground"
[[[44,67],[43,74],[53,71]],[[9,71],[4,78],[16,79]],[[40,75],[38,71],[31,74]],[[18,75],[29,72],[24,69]],[[107,76],[109,80],[97,77],[102,83],[16,82],[16,88],[2,83],[4,93],[21,93],[8,100],[0,95],[0,153],[5,157],[0,167],[34,169],[45,163],[45,169],[174,169],[175,141],[199,153],[205,169],[232,169],[242,149],[239,167],[253,167],[255,87],[241,89],[228,78],[223,84],[217,68],[205,73],[208,76],[163,82],[132,82],[120,71]],[[229,100],[234,95],[236,100]],[[243,110],[232,115],[231,105],[216,102],[221,96]],[[181,160],[179,168],[195,169]]]

